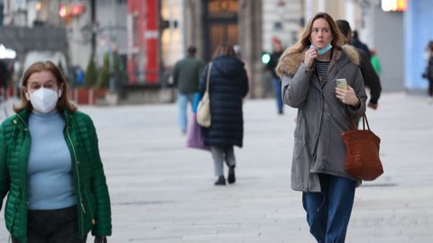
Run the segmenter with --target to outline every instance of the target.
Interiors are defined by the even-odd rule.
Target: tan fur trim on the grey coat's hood
[[[300,64],[304,61],[305,51],[295,52],[295,53],[283,53],[280,61],[278,62],[278,66],[275,68],[275,71],[278,76],[282,77],[283,75],[295,75],[296,71]],[[342,55],[345,55],[349,58],[350,62],[359,66],[359,54],[356,48],[352,45],[344,45],[342,49],[335,48],[333,49],[333,58],[334,60],[341,58]]]

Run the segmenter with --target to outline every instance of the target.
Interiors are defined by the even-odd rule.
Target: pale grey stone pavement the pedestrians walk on
[[[225,187],[213,185],[209,153],[185,148],[175,104],[80,110],[99,135],[113,204],[109,242],[315,242],[301,194],[290,189],[296,110],[278,116],[273,100],[246,101],[238,180]],[[346,242],[433,242],[433,105],[383,94],[367,114],[382,138],[385,174],[357,189]]]

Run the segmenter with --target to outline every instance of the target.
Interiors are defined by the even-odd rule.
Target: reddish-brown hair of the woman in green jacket
[[[27,83],[29,81],[29,77],[32,76],[34,73],[39,73],[41,71],[49,71],[53,76],[56,77],[57,85],[59,86],[59,89],[61,90],[61,95],[59,100],[57,101],[57,110],[63,111],[64,109],[68,109],[69,112],[75,112],[77,111],[77,107],[69,102],[68,99],[68,84],[66,82],[65,76],[61,73],[59,67],[57,67],[54,63],[51,61],[39,61],[33,63],[27,70],[25,70],[23,74],[23,87],[27,86]],[[22,88],[21,89],[21,103],[18,106],[14,106],[15,112],[21,112],[23,110],[32,110],[32,103],[30,103],[25,98],[25,91]]]

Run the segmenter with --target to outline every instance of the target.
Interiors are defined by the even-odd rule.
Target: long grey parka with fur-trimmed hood
[[[345,172],[345,144],[341,134],[351,127],[350,115],[356,118],[364,114],[367,95],[355,49],[344,46],[332,51],[323,88],[315,72],[303,64],[305,50],[281,58],[277,69],[281,75],[283,102],[298,108],[291,165],[293,190],[320,192],[318,174],[321,173],[356,180]],[[350,107],[336,98],[336,78],[345,78],[354,88],[361,101],[359,107]]]

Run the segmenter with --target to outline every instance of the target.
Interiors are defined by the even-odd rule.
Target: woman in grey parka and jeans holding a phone
[[[303,192],[309,231],[320,243],[345,242],[360,184],[345,172],[341,133],[351,128],[349,115],[364,114],[367,96],[357,52],[343,43],[332,17],[318,13],[277,66],[282,100],[298,108],[291,187]],[[346,89],[336,87],[336,78],[345,78]]]

